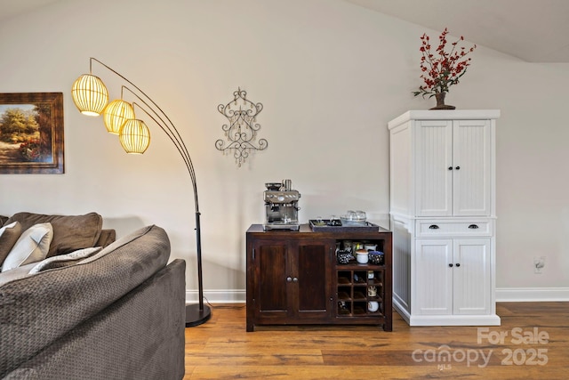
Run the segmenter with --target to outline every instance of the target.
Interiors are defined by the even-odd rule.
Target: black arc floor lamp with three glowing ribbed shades
[[[100,65],[114,73],[116,76],[124,80],[132,88],[122,85],[121,99],[108,102],[107,86],[99,77],[92,75],[92,62],[98,62]],[[123,100],[124,90],[131,93],[140,103]],[[197,245],[197,282],[199,302],[197,304],[188,304],[186,306],[186,327],[198,326],[206,322],[212,317],[212,311],[208,305],[204,305],[204,287],[202,279],[202,242],[200,227],[200,212],[197,202],[197,186],[196,172],[189,158],[186,144],[181,139],[178,129],[173,125],[172,120],[166,116],[164,111],[158,107],[155,101],[150,99],[146,93],[134,85],[126,77],[122,76],[116,70],[109,68],[105,63],[91,58],[89,61],[89,74],[78,77],[71,88],[73,101],[84,115],[100,116],[103,114],[103,121],[107,127],[108,133],[118,134],[119,141],[123,149],[127,153],[142,154],[147,150],[150,144],[150,132],[148,126],[139,118],[135,117],[134,107],[142,110],[150,117],[156,125],[162,129],[175,145],[176,150],[180,153],[184,164],[188,169],[188,174],[192,182],[194,190],[194,204],[196,206],[196,245]]]

